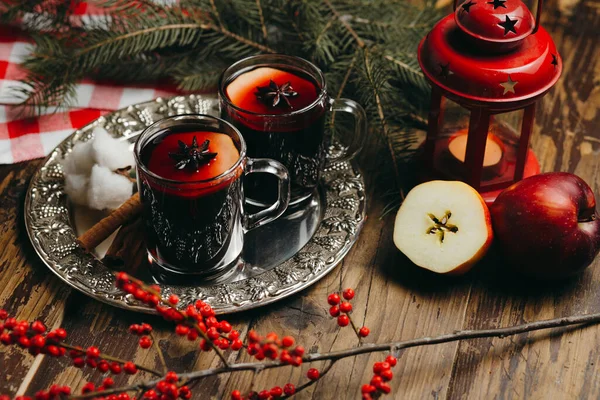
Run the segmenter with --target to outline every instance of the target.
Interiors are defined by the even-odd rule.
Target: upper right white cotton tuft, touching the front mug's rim
[[[104,128],[94,128],[93,157],[98,165],[111,171],[135,166],[129,142],[113,138]]]

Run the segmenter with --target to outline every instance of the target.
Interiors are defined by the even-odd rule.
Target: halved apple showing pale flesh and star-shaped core
[[[487,252],[493,238],[490,212],[475,189],[459,181],[413,188],[394,224],[394,244],[419,267],[463,274]]]

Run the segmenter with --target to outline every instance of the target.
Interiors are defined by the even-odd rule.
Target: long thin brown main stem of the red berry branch
[[[430,346],[434,344],[456,342],[465,339],[477,339],[477,338],[505,338],[507,336],[518,335],[520,333],[533,332],[542,329],[552,329],[571,325],[583,325],[583,324],[597,324],[600,323],[600,313],[596,314],[585,314],[576,315],[570,317],[555,318],[543,321],[528,322],[521,325],[513,325],[504,328],[492,328],[492,329],[481,329],[481,330],[462,330],[455,331],[453,333],[447,333],[440,336],[426,336],[416,339],[404,340],[399,342],[388,342],[380,344],[363,344],[360,347],[351,349],[332,351],[329,353],[310,353],[302,357],[303,362],[313,362],[330,360],[332,363],[323,370],[321,377],[331,368],[334,362],[347,357],[353,357],[360,354],[375,353],[382,351],[398,351],[407,349],[410,347],[419,346]],[[186,380],[187,382],[194,382],[198,379],[220,375],[225,373],[237,372],[237,371],[262,371],[264,369],[286,367],[287,364],[283,364],[278,361],[267,361],[267,362],[250,362],[250,363],[239,363],[230,364],[229,366],[223,366],[218,368],[205,369],[201,371],[193,371],[189,373],[179,374],[179,378]],[[138,389],[149,389],[154,387],[160,379],[141,382],[135,385],[124,386],[121,388],[114,388],[105,390],[102,392],[102,396],[106,396],[113,393],[121,393],[127,391],[134,391]],[[314,382],[314,381],[313,381]],[[88,393],[80,396],[71,396],[71,399],[84,399],[98,396],[98,393]]]

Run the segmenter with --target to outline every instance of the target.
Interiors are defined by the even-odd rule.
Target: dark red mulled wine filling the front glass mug
[[[199,162],[185,158],[201,146],[214,157]],[[240,174],[217,183],[201,182],[235,165],[240,155],[233,140],[223,133],[170,128],[149,141],[140,155],[148,171],[186,186],[182,190],[140,177],[146,245],[152,257],[172,272],[194,273],[214,271],[226,265],[224,259],[236,259],[243,234]]]

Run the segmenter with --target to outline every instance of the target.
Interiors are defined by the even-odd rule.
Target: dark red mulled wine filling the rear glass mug
[[[324,135],[326,101],[316,78],[291,66],[252,66],[224,83],[229,104],[221,115],[234,124],[248,145],[248,155],[283,163],[291,177],[293,202],[309,197],[319,182],[328,142]],[[277,193],[268,175],[249,177],[246,196],[268,204]]]

